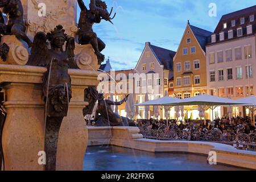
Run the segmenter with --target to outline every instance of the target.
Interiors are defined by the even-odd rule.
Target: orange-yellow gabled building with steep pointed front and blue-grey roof
[[[207,93],[207,65],[205,45],[213,33],[192,26],[185,28],[174,57],[174,93],[189,98]],[[186,118],[197,118],[197,108],[187,107]]]

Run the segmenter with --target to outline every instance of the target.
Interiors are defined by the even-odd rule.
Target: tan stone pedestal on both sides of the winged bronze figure
[[[46,68],[0,64],[0,84],[5,92],[7,118],[3,128],[5,169],[44,170],[39,151],[44,150],[44,102],[42,77]],[[96,86],[97,72],[69,69],[72,100],[68,116],[60,127],[57,146],[57,170],[82,170],[88,131],[82,109],[84,90]]]

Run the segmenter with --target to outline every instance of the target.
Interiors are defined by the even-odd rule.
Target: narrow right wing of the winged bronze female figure
[[[74,38],[68,38],[66,43],[66,52],[68,55],[68,68],[71,69],[79,69],[77,67],[76,61],[75,61],[75,39]]]

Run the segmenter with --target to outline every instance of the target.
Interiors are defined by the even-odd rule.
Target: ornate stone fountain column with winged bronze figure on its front
[[[91,0],[86,13],[111,22],[102,3]],[[91,36],[84,36],[88,30],[77,28],[75,0],[10,0],[0,6],[8,7],[6,14],[18,7],[24,19],[13,25],[0,17],[0,167],[82,170],[88,144],[83,110],[90,114],[94,106],[89,95],[98,85],[102,48],[94,53]]]

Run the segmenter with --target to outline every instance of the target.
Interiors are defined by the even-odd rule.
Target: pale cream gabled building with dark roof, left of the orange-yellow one
[[[134,69],[134,72],[138,74],[134,78],[134,88],[138,90],[135,93],[135,100],[138,103],[144,102],[146,93],[148,93],[149,100],[154,100],[163,97],[164,93],[168,92],[169,80],[174,77],[173,58],[175,53],[154,46],[150,42],[145,44],[142,55]],[[153,110],[152,108],[150,110],[152,117]],[[144,118],[144,107],[139,107],[139,113],[140,117]]]

